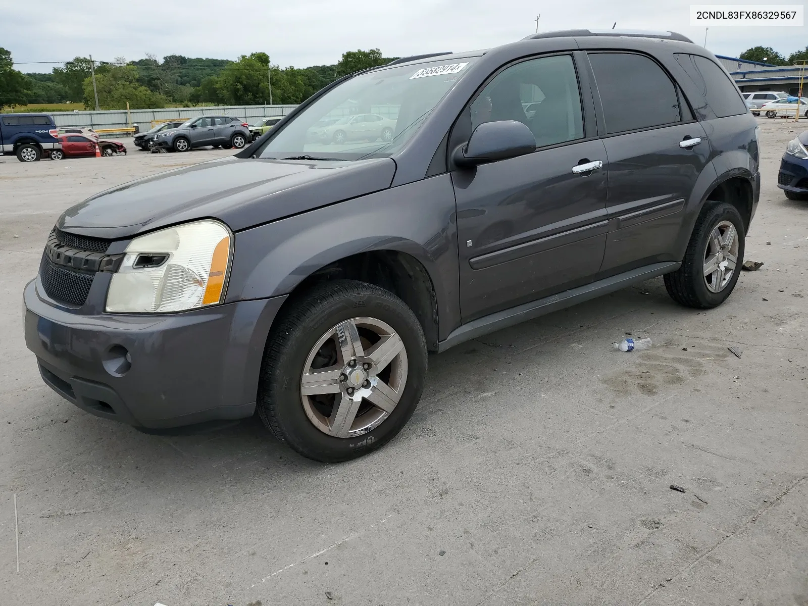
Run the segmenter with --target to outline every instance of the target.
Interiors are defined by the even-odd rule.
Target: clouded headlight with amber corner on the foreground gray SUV
[[[162,314],[221,303],[231,239],[210,219],[135,238],[112,276],[107,312]]]

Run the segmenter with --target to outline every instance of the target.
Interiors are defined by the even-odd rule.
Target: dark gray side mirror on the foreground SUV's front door
[[[478,166],[536,151],[536,137],[530,128],[516,120],[484,122],[471,133],[466,145],[452,154],[457,166]]]

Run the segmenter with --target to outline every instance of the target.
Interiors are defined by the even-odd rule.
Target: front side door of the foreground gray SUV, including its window
[[[528,119],[523,103],[535,99],[544,101]],[[463,322],[587,284],[600,268],[607,162],[591,105],[588,79],[579,86],[562,53],[500,70],[458,118],[449,149],[496,120],[526,124],[537,143],[532,154],[452,170]]]

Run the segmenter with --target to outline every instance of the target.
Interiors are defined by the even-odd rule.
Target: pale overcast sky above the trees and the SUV
[[[755,5],[789,1],[798,2]],[[490,48],[536,32],[537,15],[541,32],[617,22],[618,28],[680,32],[704,44],[705,29],[690,26],[689,6],[685,0],[0,0],[0,46],[23,72],[57,65],[23,62],[90,54],[96,61],[133,61],[146,53],[235,60],[255,51],[281,67],[306,67],[336,63],[357,48],[381,48],[385,57]],[[757,45],[788,56],[808,45],[808,27],[710,27],[707,33],[707,48],[730,57]]]

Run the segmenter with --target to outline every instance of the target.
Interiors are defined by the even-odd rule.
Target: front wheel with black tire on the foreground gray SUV
[[[403,346],[394,356],[386,356],[388,359],[381,362],[377,374],[377,369],[368,363],[373,350],[366,335],[373,337],[374,333],[367,326],[373,322],[386,327],[382,332],[386,331],[388,336],[382,338],[392,339],[387,343]],[[351,331],[351,323],[356,330]],[[344,347],[348,355],[356,355],[360,362],[352,368],[345,365],[351,358],[342,353],[337,343],[336,335],[343,327],[342,336],[348,335]],[[366,357],[347,344],[351,342],[351,334],[360,339]],[[393,339],[396,336],[399,341]],[[376,353],[381,355],[379,351]],[[370,368],[366,369],[363,360]],[[330,385],[339,393],[314,391],[311,393],[321,395],[304,395],[301,387],[304,369],[332,366],[334,372],[340,372],[340,367],[343,370],[339,379],[330,378],[333,381]],[[404,301],[373,284],[356,280],[326,282],[289,301],[286,312],[273,327],[261,366],[257,408],[272,434],[304,457],[326,463],[348,461],[381,448],[401,431],[418,406],[426,372],[427,343],[423,330]],[[371,381],[375,382],[371,385]],[[398,397],[398,403],[382,399],[392,403],[389,412],[358,396],[351,387],[358,385],[357,391],[367,388],[365,393],[378,398],[381,390],[377,385],[382,382],[388,390],[398,382],[398,387],[385,390]],[[323,389],[322,384],[319,389]],[[360,407],[350,408],[352,415],[348,419],[353,420],[340,424],[335,406],[351,402],[360,402],[356,404]],[[334,435],[340,433],[343,436]]]

